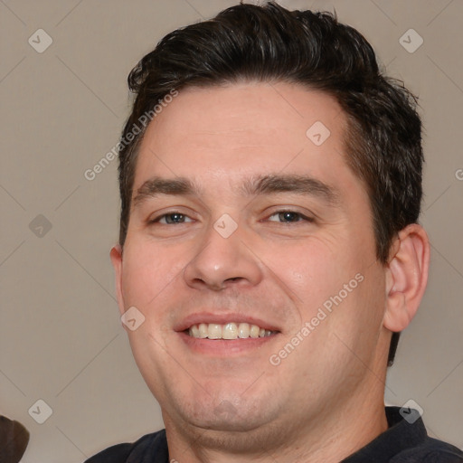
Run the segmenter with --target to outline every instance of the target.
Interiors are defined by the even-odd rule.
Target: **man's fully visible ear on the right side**
[[[412,223],[392,244],[386,270],[386,307],[383,326],[397,333],[406,328],[420,306],[430,267],[430,241],[426,231]]]

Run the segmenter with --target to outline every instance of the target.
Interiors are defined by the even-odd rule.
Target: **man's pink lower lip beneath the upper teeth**
[[[260,348],[274,340],[279,334],[264,337],[247,337],[245,339],[208,339],[198,338],[179,332],[186,345],[198,354],[231,355],[249,353],[250,350]]]

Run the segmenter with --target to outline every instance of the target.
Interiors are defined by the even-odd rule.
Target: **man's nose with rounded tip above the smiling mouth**
[[[204,233],[200,250],[184,268],[186,284],[213,291],[258,285],[262,279],[260,260],[242,238],[240,227],[223,238],[211,226]]]

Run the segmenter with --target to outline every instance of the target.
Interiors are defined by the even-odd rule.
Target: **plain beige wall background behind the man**
[[[93,181],[84,172],[118,141],[138,59],[175,27],[235,3],[0,0],[0,413],[31,431],[25,463],[77,463],[162,427],[114,298],[117,161]],[[281,4],[335,8],[420,96],[430,286],[402,335],[386,401],[418,402],[430,435],[463,448],[463,1]],[[52,37],[43,53],[28,43],[40,28]],[[424,40],[412,53],[399,42],[411,28]],[[51,230],[39,228],[43,218],[30,229],[39,214]],[[28,413],[39,399],[52,408],[43,424]]]

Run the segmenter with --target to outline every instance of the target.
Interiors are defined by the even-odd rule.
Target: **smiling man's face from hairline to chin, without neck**
[[[147,128],[111,257],[165,421],[282,436],[377,387],[384,272],[345,129],[288,83],[182,90]]]

